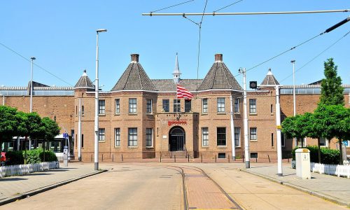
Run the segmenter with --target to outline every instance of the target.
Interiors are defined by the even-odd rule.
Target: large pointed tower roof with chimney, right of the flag
[[[211,66],[198,90],[232,89],[242,90],[231,71],[223,62],[223,55],[215,55],[215,63]]]

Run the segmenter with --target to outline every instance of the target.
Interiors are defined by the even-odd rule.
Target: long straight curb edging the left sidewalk
[[[42,187],[42,188],[38,188],[38,189],[35,189],[35,190],[30,190],[26,193],[23,193],[21,195],[17,195],[17,196],[14,196],[14,197],[10,197],[10,198],[6,198],[5,200],[1,200],[0,201],[0,206],[4,205],[4,204],[8,204],[8,203],[11,203],[11,202],[15,202],[16,200],[22,200],[22,199],[25,199],[29,196],[33,196],[33,195],[36,195],[38,193],[43,193],[45,191],[48,191],[48,190],[52,190],[53,188],[57,188],[59,186],[64,186],[68,183],[71,183],[73,181],[78,181],[79,179],[84,179],[86,177],[89,177],[89,176],[94,176],[96,174],[101,174],[103,172],[107,172],[107,170],[101,170],[101,171],[98,171],[98,172],[92,172],[90,174],[85,174],[83,176],[78,176],[76,178],[73,178],[73,179],[68,179],[66,181],[61,181],[59,183],[54,183],[52,185],[49,185],[49,186],[45,186],[45,187]]]

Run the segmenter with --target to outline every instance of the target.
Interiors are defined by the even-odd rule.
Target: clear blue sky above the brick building
[[[185,0],[133,1],[3,1],[0,8],[0,43],[75,85],[84,69],[94,80],[96,29],[106,28],[99,36],[99,79],[104,91],[111,90],[130,63],[130,54],[139,53],[140,63],[150,78],[172,78],[176,52],[182,78],[197,78],[198,27],[181,16],[141,16]],[[207,12],[234,3],[209,0]],[[162,10],[160,13],[201,13],[203,0]],[[262,12],[291,10],[350,9],[349,0],[244,0],[219,12]],[[199,78],[204,78],[222,53],[233,75],[278,55],[284,50],[320,34],[349,17],[350,13],[302,15],[204,16],[200,50]],[[200,16],[189,17],[195,22]],[[247,80],[261,83],[271,68],[284,85],[293,83],[290,73],[350,31],[350,22],[318,36],[247,72]],[[26,86],[30,62],[0,45],[0,85]],[[297,84],[323,78],[323,62],[335,59],[343,83],[350,84],[350,34],[297,71]],[[285,79],[286,78],[286,79]],[[46,85],[68,86],[34,66],[34,80]],[[237,76],[241,83],[241,76]]]

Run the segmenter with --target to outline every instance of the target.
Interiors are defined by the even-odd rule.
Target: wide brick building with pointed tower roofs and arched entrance
[[[99,155],[104,159],[123,154],[125,158],[159,158],[160,155],[189,155],[191,158],[228,158],[235,144],[237,157],[244,155],[243,90],[223,62],[215,62],[204,79],[181,79],[176,56],[173,79],[150,79],[131,55],[130,64],[109,92],[99,94]],[[176,83],[194,94],[190,101],[176,99]],[[272,71],[257,90],[248,90],[248,137],[252,158],[276,159],[276,85]],[[94,153],[94,85],[86,71],[75,87],[47,87],[34,83],[33,111],[57,121],[71,136],[77,156],[78,116],[81,116],[82,158]],[[344,85],[349,107],[350,85]],[[281,117],[293,115],[293,86],[279,87]],[[4,104],[29,111],[28,87],[0,87]],[[320,85],[297,85],[297,113],[312,112],[317,106]],[[80,109],[79,109],[80,104]],[[80,110],[80,111],[79,111]],[[232,111],[231,111],[232,110]],[[234,129],[231,130],[231,121]],[[50,144],[62,151],[63,141]],[[323,140],[324,145],[327,141]],[[316,140],[307,139],[307,145]],[[2,148],[15,149],[16,141]],[[35,143],[34,143],[35,144]],[[300,142],[282,135],[283,156],[288,157]],[[34,145],[38,146],[37,145]],[[329,145],[336,148],[335,141]],[[73,151],[72,151],[73,152]]]

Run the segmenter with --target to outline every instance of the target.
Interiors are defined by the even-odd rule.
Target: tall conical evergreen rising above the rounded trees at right
[[[344,105],[344,87],[342,78],[337,76],[337,66],[333,59],[324,62],[325,78],[321,81],[320,105]]]

